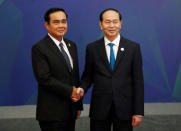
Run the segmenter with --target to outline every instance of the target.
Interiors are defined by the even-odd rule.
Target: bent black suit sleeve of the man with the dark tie
[[[70,98],[73,90],[72,86],[57,80],[51,75],[48,60],[38,46],[32,47],[32,66],[35,78],[41,88]]]

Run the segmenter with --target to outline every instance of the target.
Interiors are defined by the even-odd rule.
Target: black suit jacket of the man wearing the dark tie
[[[74,103],[70,96],[72,86],[79,86],[79,67],[76,45],[64,39],[73,59],[73,71],[60,50],[47,35],[32,47],[32,65],[38,81],[36,118],[40,121],[67,120],[82,110],[82,102]]]

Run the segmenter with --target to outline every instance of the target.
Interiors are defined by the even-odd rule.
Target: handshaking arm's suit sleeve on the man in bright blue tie
[[[81,87],[84,89],[85,93],[90,88],[92,83],[92,75],[93,75],[92,57],[93,55],[91,55],[90,46],[88,45],[86,48],[84,72],[81,77]]]

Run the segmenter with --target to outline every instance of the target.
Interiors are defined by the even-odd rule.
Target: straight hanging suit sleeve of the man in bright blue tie
[[[142,55],[138,45],[133,59],[133,115],[144,115],[144,80],[142,70]]]

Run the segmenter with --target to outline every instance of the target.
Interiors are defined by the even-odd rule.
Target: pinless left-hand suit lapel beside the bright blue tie
[[[112,72],[111,66],[110,66],[108,58],[107,58],[104,38],[102,38],[98,44],[99,44],[100,48],[98,49],[97,52],[100,52],[101,57],[102,57],[102,59],[103,59],[103,61],[105,63],[105,66],[108,68],[108,70],[110,72]]]

